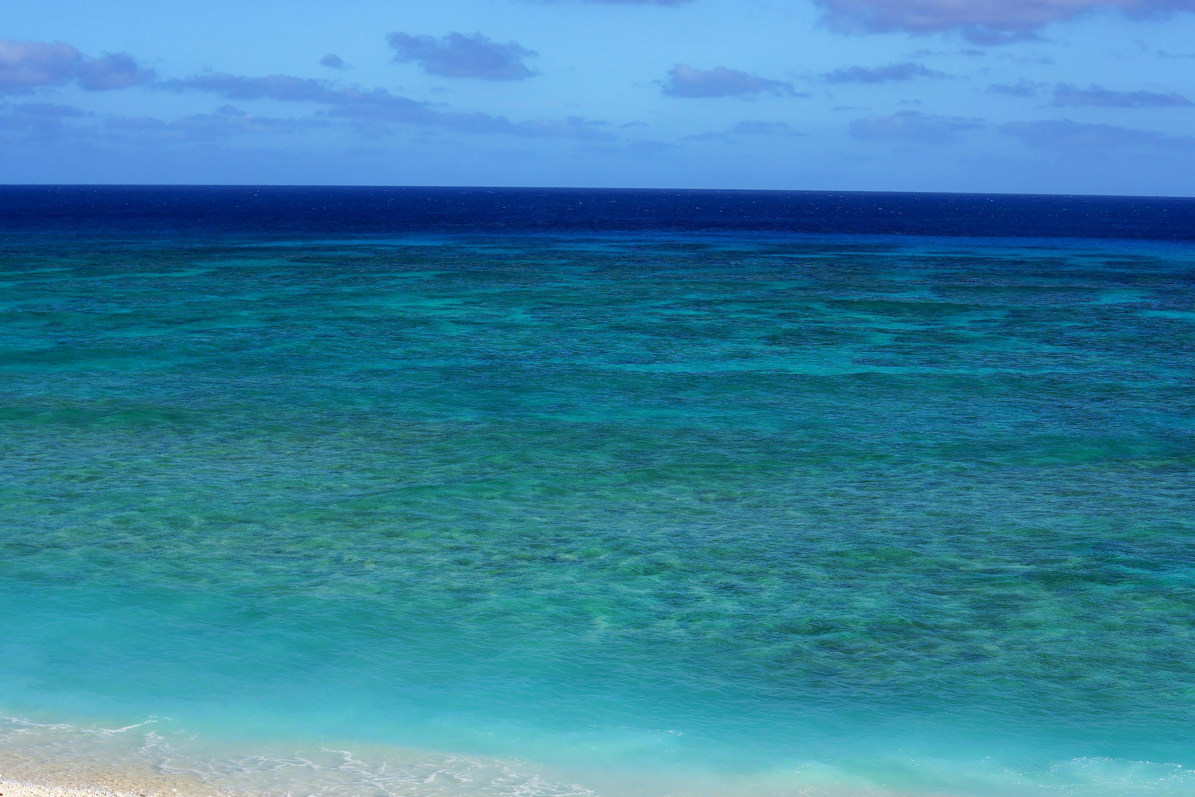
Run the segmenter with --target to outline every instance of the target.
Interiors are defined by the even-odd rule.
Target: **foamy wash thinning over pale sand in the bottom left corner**
[[[6,780],[174,797],[595,797],[521,761],[385,746],[234,752],[151,718],[123,728],[0,717]]]

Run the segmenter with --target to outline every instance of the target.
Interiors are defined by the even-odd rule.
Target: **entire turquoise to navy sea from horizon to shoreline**
[[[1193,767],[1195,200],[0,188],[0,778]]]

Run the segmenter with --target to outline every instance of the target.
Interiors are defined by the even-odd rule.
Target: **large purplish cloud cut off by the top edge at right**
[[[1195,11],[1195,0],[816,0],[822,22],[845,33],[958,31],[976,44],[1036,38],[1050,23],[1115,10],[1129,17]]]

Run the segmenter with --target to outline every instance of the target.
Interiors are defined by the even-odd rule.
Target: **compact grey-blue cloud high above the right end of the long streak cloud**
[[[441,78],[477,78],[479,80],[526,80],[535,73],[522,59],[538,55],[519,42],[492,42],[480,33],[465,36],[452,32],[443,38],[391,33],[394,61],[417,62],[428,74]]]

